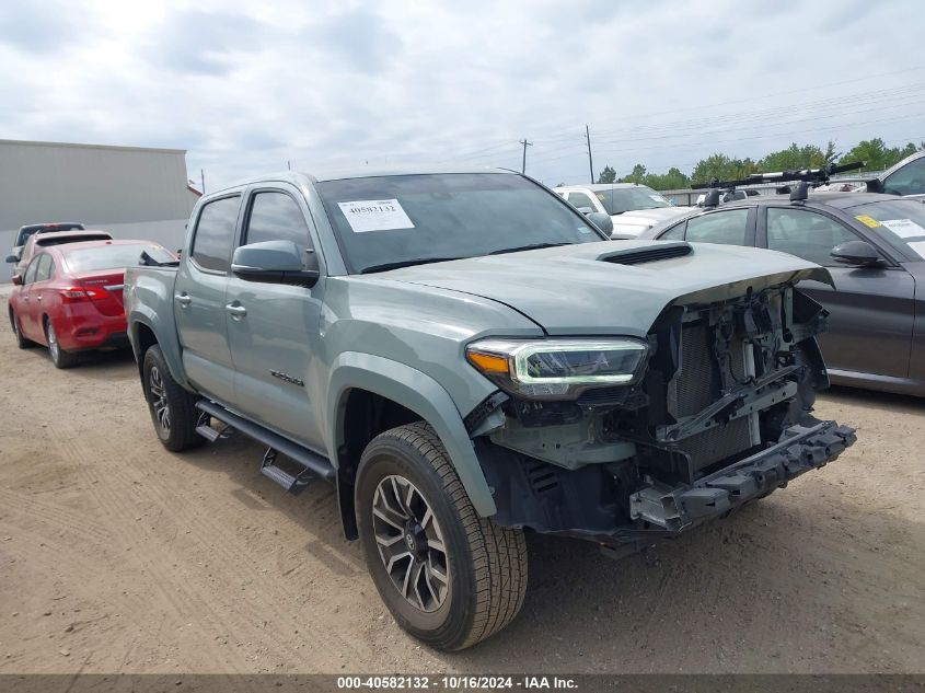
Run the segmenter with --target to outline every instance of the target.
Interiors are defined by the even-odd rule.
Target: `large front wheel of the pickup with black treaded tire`
[[[397,524],[383,522],[383,497],[392,499],[386,506],[400,497],[397,492],[388,490],[389,484],[396,478],[407,482],[407,486],[402,486],[401,495],[408,500],[404,504],[398,500],[398,505],[406,509],[416,505],[418,517],[429,509],[432,519],[414,527],[424,524],[431,530],[436,527],[439,541],[429,534],[417,541],[414,536],[406,540],[407,534],[396,529]],[[381,489],[379,495],[378,489]],[[380,515],[374,516],[377,503]],[[369,443],[357,474],[356,507],[360,541],[373,582],[398,625],[415,637],[438,649],[464,649],[502,630],[520,611],[527,591],[523,531],[498,527],[489,518],[478,516],[440,439],[426,423],[393,428]],[[406,517],[411,519],[406,522],[415,522],[414,515],[409,512]],[[397,518],[394,513],[390,517],[392,520]],[[386,534],[395,534],[383,536],[383,530]],[[418,530],[405,531],[414,534]],[[377,532],[380,541],[377,541]],[[427,534],[425,530],[421,532]],[[396,538],[401,538],[401,542]],[[390,574],[385,563],[389,558],[380,553],[381,542],[394,544],[394,547],[385,548],[386,543],[382,543],[382,551],[407,548],[408,553],[418,553],[403,559],[407,563],[395,563],[394,553],[390,554],[396,566]],[[444,545],[444,551],[440,552],[437,545]],[[398,587],[405,565],[405,590],[409,584],[424,586],[423,590],[413,590],[417,594],[408,598]],[[415,565],[424,567],[414,573]],[[431,578],[435,573],[430,567],[443,565],[447,579],[441,600],[437,596],[440,581]],[[438,589],[435,591],[432,586]],[[427,593],[428,603],[421,598],[423,592]]]

